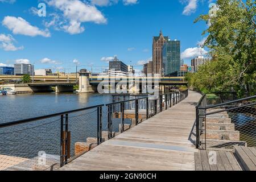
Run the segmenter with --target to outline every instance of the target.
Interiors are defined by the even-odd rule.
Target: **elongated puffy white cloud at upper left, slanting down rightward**
[[[27,36],[44,36],[49,37],[51,34],[46,30],[40,30],[38,27],[32,26],[29,22],[21,17],[5,16],[2,21],[3,26],[13,31],[13,34],[27,35]]]

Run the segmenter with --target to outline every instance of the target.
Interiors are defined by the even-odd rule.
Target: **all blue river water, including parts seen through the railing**
[[[34,118],[84,107],[109,104],[110,94],[24,94],[0,96],[0,123]],[[102,108],[102,130],[108,131],[107,107]],[[120,119],[113,119],[113,131],[118,132]],[[125,123],[131,124],[130,119]],[[6,165],[1,155],[35,158],[38,152],[59,156],[60,116],[0,129],[0,169]],[[97,137],[97,108],[69,114],[68,131],[71,132],[71,156],[75,144]],[[8,161],[7,161],[8,162]]]

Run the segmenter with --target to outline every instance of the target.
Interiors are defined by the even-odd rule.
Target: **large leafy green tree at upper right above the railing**
[[[200,67],[190,83],[204,90],[256,93],[256,7],[253,0],[218,0],[216,14],[195,20],[208,23],[204,46],[213,61]]]

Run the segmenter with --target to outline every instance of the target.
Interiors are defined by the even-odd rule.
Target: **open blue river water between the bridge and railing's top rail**
[[[112,97],[108,94],[0,95],[0,123],[108,104],[109,102],[112,102]]]

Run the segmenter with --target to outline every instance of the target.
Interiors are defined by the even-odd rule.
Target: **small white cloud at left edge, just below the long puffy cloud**
[[[0,48],[5,51],[18,51],[23,49],[23,46],[16,47],[14,46],[13,42],[15,39],[11,35],[0,34]]]

